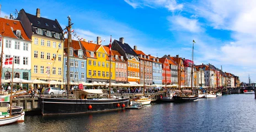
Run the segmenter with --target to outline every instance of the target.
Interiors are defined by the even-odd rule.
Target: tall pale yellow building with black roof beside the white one
[[[63,81],[62,28],[58,21],[40,17],[20,10],[22,21],[31,43],[31,79]]]

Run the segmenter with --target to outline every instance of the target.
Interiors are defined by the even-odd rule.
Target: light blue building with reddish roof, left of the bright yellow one
[[[70,81],[71,82],[86,82],[86,70],[87,70],[87,59],[84,56],[84,52],[81,48],[81,44],[79,41],[72,40],[70,44]],[[63,72],[64,81],[67,81],[67,41],[65,41],[65,49],[64,49],[64,65]]]

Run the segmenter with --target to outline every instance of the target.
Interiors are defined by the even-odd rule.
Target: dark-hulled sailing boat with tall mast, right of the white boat
[[[193,48],[192,48],[192,62],[194,61],[194,43],[193,40]],[[193,68],[194,62],[191,67],[191,91],[190,90],[182,90],[178,95],[173,96],[174,102],[193,102],[198,101],[198,94],[195,92],[193,93]],[[180,90],[180,86],[179,86]]]

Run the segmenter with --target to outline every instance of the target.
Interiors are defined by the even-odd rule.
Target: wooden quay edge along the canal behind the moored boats
[[[111,96],[129,96],[130,98],[133,98],[134,95],[136,95],[138,93],[134,93],[134,94],[111,94]],[[139,93],[140,94],[140,93]],[[104,94],[102,97],[107,97],[108,94]],[[157,101],[159,99],[159,96],[163,95],[163,92],[154,92],[154,93],[147,93],[145,94],[145,96],[150,96],[152,97],[152,102]],[[31,97],[31,95],[22,95],[19,97],[15,97],[12,100],[12,103],[14,106],[21,106],[23,107],[23,111],[24,112],[33,112],[33,111],[40,111],[39,108],[39,103],[38,103],[38,96],[39,95],[35,95],[35,97]],[[44,96],[49,96],[49,95],[44,95]],[[55,96],[57,97],[57,96]],[[66,98],[66,96],[58,96],[58,97],[63,97]],[[73,95],[70,95],[71,98],[74,98]],[[95,95],[88,95],[87,98],[97,98],[97,96]],[[1,102],[0,103],[0,107],[1,106],[6,106],[7,103],[5,102]]]

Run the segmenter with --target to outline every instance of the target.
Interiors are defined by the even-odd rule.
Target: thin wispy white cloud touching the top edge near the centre
[[[130,4],[133,8],[158,8],[164,7],[168,10],[174,12],[175,10],[182,10],[183,4],[177,4],[175,0],[143,0],[143,1],[134,1],[134,0],[124,0],[127,4]]]

